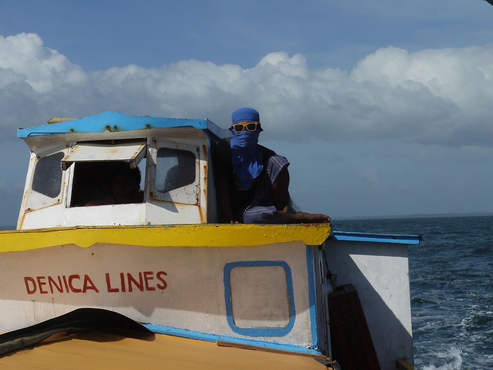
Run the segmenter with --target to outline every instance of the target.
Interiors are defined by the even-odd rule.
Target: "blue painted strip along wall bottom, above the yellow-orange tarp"
[[[315,351],[313,349],[300,347],[300,346],[297,346],[294,344],[282,344],[282,343],[264,342],[264,341],[252,340],[252,339],[241,339],[241,338],[235,338],[232,336],[192,332],[190,330],[177,329],[177,328],[171,328],[171,327],[167,327],[167,326],[154,325],[154,324],[142,323],[142,325],[145,326],[150,331],[152,331],[153,333],[168,334],[168,335],[174,335],[174,336],[179,336],[182,338],[189,338],[189,339],[205,340],[207,342],[212,342],[212,343],[215,343],[218,340],[224,340],[227,342],[253,345],[253,346],[262,347],[262,348],[273,348],[273,349],[279,349],[279,350],[283,350],[283,351],[291,351],[291,352],[296,352],[296,353],[307,353],[307,354],[311,354],[311,355],[320,355],[321,354],[320,352]]]

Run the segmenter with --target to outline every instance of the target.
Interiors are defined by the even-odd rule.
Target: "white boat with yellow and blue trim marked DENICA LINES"
[[[105,357],[125,342],[126,354],[139,348],[140,365],[120,353],[110,360],[115,368],[412,367],[407,250],[421,237],[330,223],[218,223],[212,157],[230,135],[209,119],[115,111],[18,130],[31,156],[17,229],[0,231],[2,366],[26,358],[41,366],[47,347],[73,359],[81,342]],[[141,174],[124,202],[110,194],[122,171]],[[344,308],[348,295],[353,305]],[[349,315],[359,302],[361,314]],[[123,317],[153,340],[81,333],[39,345],[57,330],[69,333],[74,317],[91,325]],[[376,365],[348,344],[356,321]],[[26,352],[19,342],[37,346]],[[201,357],[173,357],[178,350]],[[346,363],[338,360],[344,351]],[[84,360],[57,364],[75,369]]]

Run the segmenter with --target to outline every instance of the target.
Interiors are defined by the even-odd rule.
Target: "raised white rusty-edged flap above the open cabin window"
[[[136,168],[145,156],[146,143],[120,143],[118,145],[86,143],[77,144],[62,159],[65,171],[73,162],[130,161]]]

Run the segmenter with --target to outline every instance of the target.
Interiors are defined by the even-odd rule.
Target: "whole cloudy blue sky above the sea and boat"
[[[18,127],[113,110],[226,128],[245,106],[305,211],[492,213],[492,19],[484,0],[1,0],[0,224]]]

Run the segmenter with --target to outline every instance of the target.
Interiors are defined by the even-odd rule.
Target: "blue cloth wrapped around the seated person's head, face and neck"
[[[231,115],[233,124],[239,122],[258,122],[260,123],[258,111],[253,108],[240,108]],[[240,180],[242,189],[250,188],[253,179],[257,178],[264,168],[262,161],[262,148],[257,144],[258,135],[262,128],[260,126],[254,132],[243,130],[236,132],[233,128],[230,129],[233,133],[231,139],[231,163],[233,169]]]

